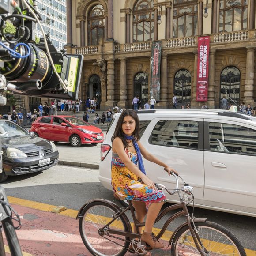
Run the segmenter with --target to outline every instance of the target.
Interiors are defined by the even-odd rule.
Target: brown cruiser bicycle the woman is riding
[[[229,230],[217,223],[207,221],[206,218],[195,218],[193,214],[192,217],[190,216],[187,205],[193,202],[193,187],[184,182],[184,186],[178,189],[178,177],[174,173],[172,175],[176,179],[174,190],[161,184],[156,184],[156,187],[166,190],[170,195],[177,193],[180,203],[166,207],[155,220],[156,223],[169,211],[181,209],[167,219],[156,236],[157,239],[162,237],[169,223],[175,218],[185,216],[187,220],[178,226],[170,237],[168,247],[171,245],[171,255],[183,256],[190,253],[193,256],[246,256],[240,241]],[[189,196],[192,196],[192,199]],[[128,249],[129,252],[138,255],[147,253],[148,248],[140,240],[139,233],[139,227],[145,226],[145,222],[139,223],[136,220],[132,202],[129,200],[128,203],[128,207],[120,208],[109,200],[95,199],[81,207],[76,219],[79,219],[79,232],[83,243],[91,254],[121,256]],[[128,210],[131,211],[136,233],[132,232],[131,223],[125,214]],[[130,244],[132,249],[129,248]]]

